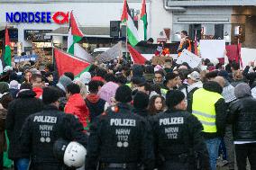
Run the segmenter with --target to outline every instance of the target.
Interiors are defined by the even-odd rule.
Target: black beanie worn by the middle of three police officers
[[[120,103],[130,103],[132,98],[132,90],[127,85],[121,85],[115,92],[115,100]]]

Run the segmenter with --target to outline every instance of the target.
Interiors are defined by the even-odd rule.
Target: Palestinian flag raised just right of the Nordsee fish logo
[[[74,55],[75,43],[78,43],[78,41],[82,40],[83,37],[84,37],[84,34],[78,28],[78,24],[75,20],[73,12],[71,12],[70,19],[69,19],[69,37],[68,37],[68,53],[69,54]]]

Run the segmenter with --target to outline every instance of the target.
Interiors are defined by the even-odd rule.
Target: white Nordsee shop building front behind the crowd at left
[[[130,0],[129,6],[133,14],[139,14],[142,7],[141,0]],[[73,11],[79,27],[86,34],[85,42],[90,41],[94,46],[107,47],[114,41],[110,37],[110,21],[120,21],[123,12],[123,0],[0,0],[0,40],[3,46],[5,25],[14,33],[10,35],[13,42],[18,42],[22,51],[32,51],[36,47],[48,49],[51,41],[59,47],[67,46],[69,23],[55,22],[16,22],[6,21],[6,13],[50,13],[50,17],[57,12],[70,13]],[[147,2],[149,28],[151,27],[151,2]],[[162,9],[163,10],[163,9]],[[163,10],[164,11],[164,10]],[[165,12],[165,11],[164,11]],[[15,17],[15,16],[14,16]],[[59,16],[60,19],[62,16]],[[19,22],[17,22],[19,21]],[[151,36],[149,29],[149,36]],[[13,32],[13,31],[12,31]],[[52,33],[50,33],[52,32]],[[10,33],[11,34],[11,33]],[[1,45],[0,44],[0,45]],[[87,43],[85,43],[87,46]]]

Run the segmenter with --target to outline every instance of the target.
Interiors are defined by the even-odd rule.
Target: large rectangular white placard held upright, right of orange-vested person
[[[200,40],[200,53],[202,58],[216,60],[224,58],[225,40]]]

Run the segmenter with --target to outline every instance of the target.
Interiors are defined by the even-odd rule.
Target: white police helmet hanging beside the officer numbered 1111
[[[64,164],[69,167],[81,167],[85,165],[87,149],[78,142],[72,141],[64,153]]]

